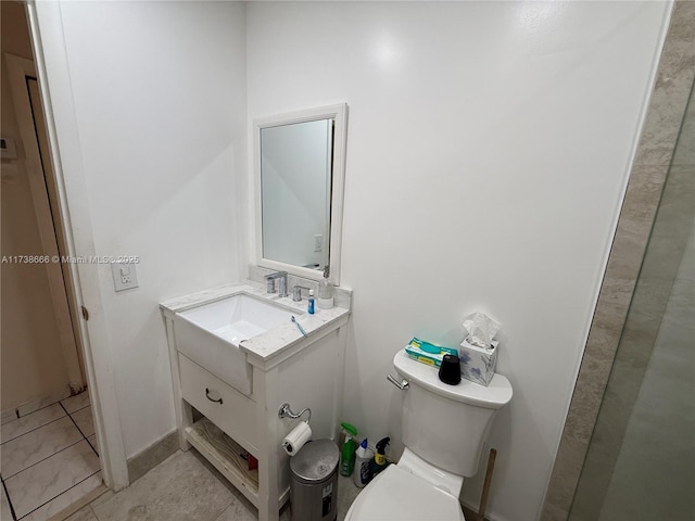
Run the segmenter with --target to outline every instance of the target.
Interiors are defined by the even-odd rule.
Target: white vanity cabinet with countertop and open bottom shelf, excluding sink
[[[294,308],[307,333],[302,335],[288,321],[239,344],[245,356],[242,363],[249,364],[251,370],[250,393],[215,376],[215,368],[194,361],[191,353],[195,346],[177,345],[177,314],[240,292]],[[334,307],[305,315],[305,305],[306,301],[273,298],[251,285],[220,287],[160,305],[166,323],[181,449],[194,446],[258,508],[261,521],[278,520],[280,507],[289,499],[289,456],[281,442],[299,421],[306,419],[280,419],[280,406],[289,403],[294,411],[311,408],[313,439],[336,439],[338,434],[350,312]],[[190,342],[184,334],[178,340]],[[203,415],[195,423],[193,408]],[[257,471],[248,470],[239,456],[243,450],[258,460]]]

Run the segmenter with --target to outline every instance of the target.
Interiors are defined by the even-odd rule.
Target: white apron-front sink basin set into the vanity
[[[251,365],[239,350],[243,340],[282,323],[287,308],[245,293],[177,313],[174,332],[178,351],[244,394],[251,393]]]

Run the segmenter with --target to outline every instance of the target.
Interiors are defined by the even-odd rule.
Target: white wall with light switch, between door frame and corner
[[[108,340],[92,351],[111,360],[130,457],[174,429],[159,302],[239,280],[242,270],[235,198],[247,163],[244,5],[64,2],[60,10],[62,30],[41,27],[42,47],[65,47],[74,99],[64,89],[51,94],[59,127],[73,117],[63,107],[75,106],[86,179],[79,204],[89,207],[99,255],[141,259],[140,288],[118,294],[109,266],[84,267],[98,270],[101,302],[86,305],[90,323],[105,321]],[[61,65],[51,58],[49,84]],[[65,176],[70,192],[75,171]],[[85,228],[74,223],[77,242]]]

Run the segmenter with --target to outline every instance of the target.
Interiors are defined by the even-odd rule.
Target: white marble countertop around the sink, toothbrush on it
[[[330,328],[341,319],[346,320],[350,310],[343,307],[332,307],[330,309],[320,309],[316,307],[316,313],[309,315],[306,313],[307,301],[303,298],[301,302],[292,301],[291,296],[280,298],[277,293],[266,293],[264,288],[253,285],[252,283],[243,284],[225,284],[208,290],[198,291],[188,295],[168,298],[160,303],[160,308],[170,319],[177,313],[186,312],[193,307],[211,304],[223,298],[233,296],[239,293],[245,293],[256,298],[275,303],[281,307],[289,308],[294,312],[296,321],[304,328],[307,333],[305,338],[296,325],[288,321],[282,326],[273,328],[265,333],[258,334],[240,343],[239,348],[251,355],[252,358],[260,358],[268,361],[270,358],[280,353],[300,344],[304,340],[312,340],[312,336],[321,330]]]

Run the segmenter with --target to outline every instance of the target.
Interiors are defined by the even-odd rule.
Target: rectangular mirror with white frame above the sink
[[[340,283],[345,103],[254,120],[256,262]]]

